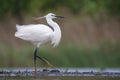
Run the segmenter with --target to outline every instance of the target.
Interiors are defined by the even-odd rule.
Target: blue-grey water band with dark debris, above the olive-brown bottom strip
[[[34,77],[34,68],[4,68],[0,69],[1,77]],[[74,76],[112,76],[120,77],[119,68],[37,68],[38,77],[74,77]]]

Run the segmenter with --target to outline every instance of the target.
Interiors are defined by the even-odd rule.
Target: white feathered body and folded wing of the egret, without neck
[[[32,42],[33,44],[43,44],[51,40],[53,31],[43,24],[16,25],[15,37]]]

